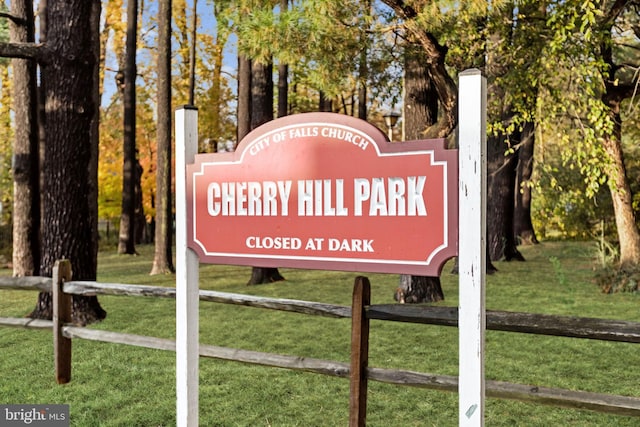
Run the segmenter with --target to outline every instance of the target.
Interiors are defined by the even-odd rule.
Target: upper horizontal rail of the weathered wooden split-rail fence
[[[45,277],[0,278],[0,289],[51,291],[51,279]],[[175,298],[175,288],[71,281],[64,284],[72,295],[127,295]],[[350,318],[351,307],[293,299],[267,298],[216,291],[200,291],[200,301],[242,305],[325,317]],[[457,307],[433,307],[410,304],[381,304],[366,308],[372,320],[458,326]],[[487,310],[487,329],[570,338],[640,343],[640,322],[588,317],[557,316],[537,313]]]

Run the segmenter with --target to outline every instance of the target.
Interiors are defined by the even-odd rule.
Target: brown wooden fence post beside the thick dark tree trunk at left
[[[53,354],[56,382],[66,384],[71,381],[71,339],[62,335],[62,328],[71,322],[71,295],[65,294],[64,282],[71,280],[71,262],[59,260],[53,267]]]

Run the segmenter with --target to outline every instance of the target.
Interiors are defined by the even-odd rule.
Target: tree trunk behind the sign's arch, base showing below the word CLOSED
[[[273,120],[273,65],[251,64],[251,129]],[[284,280],[277,268],[253,267],[247,285]]]

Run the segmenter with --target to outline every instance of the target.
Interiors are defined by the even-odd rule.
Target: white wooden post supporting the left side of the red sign
[[[176,424],[198,425],[199,260],[187,247],[187,163],[198,150],[198,110],[176,111]]]

